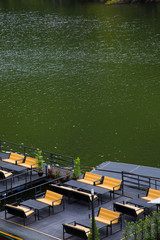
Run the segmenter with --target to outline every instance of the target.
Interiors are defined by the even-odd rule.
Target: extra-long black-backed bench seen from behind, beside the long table
[[[56,185],[56,184],[51,184],[50,188],[57,193],[67,195],[69,202],[70,202],[71,197],[78,199],[78,200],[88,202],[88,208],[90,209],[90,204],[92,202],[91,193],[79,191],[79,190],[73,189],[71,187],[66,187],[66,186],[61,186],[61,185]],[[98,200],[98,196],[94,195],[94,199]]]

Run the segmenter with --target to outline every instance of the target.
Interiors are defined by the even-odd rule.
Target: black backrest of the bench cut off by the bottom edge
[[[76,226],[70,224],[63,224],[63,229],[65,229],[66,233],[71,234],[73,236],[77,236],[82,239],[88,238],[85,230],[77,228]]]

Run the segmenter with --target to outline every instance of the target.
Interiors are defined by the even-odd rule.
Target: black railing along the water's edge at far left
[[[37,149],[24,146],[23,144],[16,144],[4,140],[0,140],[0,152],[2,153],[10,153],[16,152],[19,154],[24,154],[26,156],[35,157]],[[74,167],[74,158],[65,156],[62,154],[47,152],[42,150],[42,155],[45,163],[50,165],[55,165],[62,168],[70,168]]]

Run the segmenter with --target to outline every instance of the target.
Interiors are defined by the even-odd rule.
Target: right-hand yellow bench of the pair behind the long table
[[[103,176],[101,183],[97,184],[97,181],[95,182],[95,185],[97,187],[105,188],[113,192],[113,197],[115,191],[119,190],[121,188],[122,181],[116,178],[111,178],[107,176]]]

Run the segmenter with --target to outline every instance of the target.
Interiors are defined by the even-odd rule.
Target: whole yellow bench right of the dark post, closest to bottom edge
[[[100,208],[98,211],[97,217],[95,217],[97,222],[101,222],[107,225],[107,235],[108,235],[108,227],[110,227],[110,234],[112,234],[112,227],[114,224],[120,223],[120,229],[122,229],[122,217],[121,214],[106,208]]]

